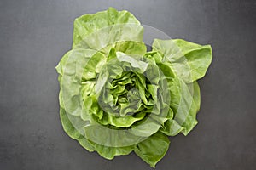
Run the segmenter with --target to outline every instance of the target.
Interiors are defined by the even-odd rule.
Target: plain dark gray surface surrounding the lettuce
[[[255,169],[256,3],[236,0],[0,1],[0,169],[151,169],[135,154],[108,161],[63,132],[55,65],[73,20],[127,9],[173,38],[211,44],[199,124],[171,139],[156,169]]]

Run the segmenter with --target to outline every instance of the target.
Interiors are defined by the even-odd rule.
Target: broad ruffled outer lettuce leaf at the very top
[[[143,26],[125,10],[108,8],[74,21],[73,48],[101,49],[118,41],[143,41]]]

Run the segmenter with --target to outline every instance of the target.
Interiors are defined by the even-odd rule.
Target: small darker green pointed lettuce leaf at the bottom
[[[146,161],[151,167],[155,167],[155,164],[166,155],[169,144],[170,141],[166,135],[158,132],[137,144],[134,151],[143,161]]]

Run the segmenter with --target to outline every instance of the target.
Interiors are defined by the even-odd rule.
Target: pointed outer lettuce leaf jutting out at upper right
[[[201,46],[181,39],[155,39],[153,51],[162,54],[163,60],[170,61],[173,71],[187,83],[204,77],[212,62],[210,45]]]

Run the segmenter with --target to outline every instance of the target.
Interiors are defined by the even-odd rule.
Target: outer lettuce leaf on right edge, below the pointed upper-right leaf
[[[161,132],[169,136],[175,136],[182,132],[188,133],[197,124],[196,114],[200,109],[200,89],[197,82],[189,84],[192,89],[189,90],[187,85],[182,81],[176,82],[177,86],[170,86],[171,107],[174,111],[174,119],[165,122]],[[182,88],[181,88],[182,87]]]

